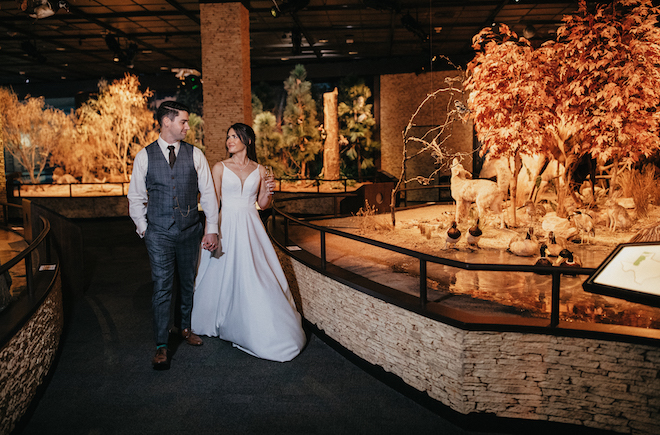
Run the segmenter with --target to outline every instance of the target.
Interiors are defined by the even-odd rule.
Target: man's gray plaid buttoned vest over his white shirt
[[[149,225],[179,230],[199,222],[197,211],[197,171],[193,163],[193,146],[180,142],[179,155],[170,168],[158,141],[147,145],[147,221]]]

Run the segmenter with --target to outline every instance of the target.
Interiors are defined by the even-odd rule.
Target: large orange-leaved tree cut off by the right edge
[[[620,0],[589,10],[584,0],[564,17],[557,41],[557,113],[579,126],[565,152],[572,161],[589,153],[613,165],[633,164],[660,148],[659,10],[651,0]],[[570,175],[570,161],[566,172]]]

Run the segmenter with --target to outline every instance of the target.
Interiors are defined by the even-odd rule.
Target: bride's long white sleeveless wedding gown
[[[202,250],[192,330],[259,358],[289,361],[305,345],[300,314],[255,202],[259,170],[241,179],[224,167],[220,247]]]

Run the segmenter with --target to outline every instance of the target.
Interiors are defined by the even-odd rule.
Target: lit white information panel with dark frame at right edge
[[[591,293],[660,307],[660,244],[617,246],[582,286]]]

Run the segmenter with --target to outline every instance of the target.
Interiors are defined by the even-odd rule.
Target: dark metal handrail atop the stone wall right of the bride
[[[286,199],[280,199],[278,201],[286,201]],[[456,267],[463,270],[472,270],[472,271],[497,271],[497,272],[531,272],[540,275],[550,275],[552,276],[552,299],[551,299],[551,310],[550,310],[550,327],[555,328],[559,325],[559,296],[560,296],[560,284],[562,274],[566,275],[591,275],[596,271],[595,268],[588,267],[562,267],[562,266],[536,266],[536,265],[523,265],[523,264],[491,264],[491,263],[468,263],[464,261],[452,260],[449,258],[436,257],[434,255],[425,254],[423,252],[413,251],[411,249],[402,248],[401,246],[392,245],[389,243],[381,242],[378,240],[369,239],[366,237],[358,236],[355,234],[347,233],[344,231],[336,230],[334,228],[327,228],[312,223],[300,220],[294,216],[282,211],[275,204],[272,206],[272,222],[273,228],[277,222],[276,216],[279,215],[284,219],[284,244],[289,244],[289,222],[293,221],[298,225],[302,225],[320,233],[320,247],[321,247],[321,270],[325,272],[327,270],[327,259],[326,259],[326,247],[325,240],[326,234],[333,234],[335,236],[344,237],[347,239],[355,240],[357,242],[365,243],[371,246],[376,246],[379,248],[387,249],[389,251],[397,252],[404,254],[410,257],[417,258],[420,262],[420,295],[419,295],[419,308],[421,310],[426,310],[426,304],[428,303],[427,294],[426,294],[426,282],[427,282],[427,263],[441,264],[450,267]]]

